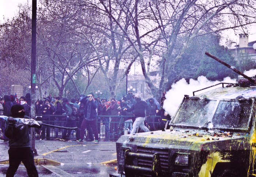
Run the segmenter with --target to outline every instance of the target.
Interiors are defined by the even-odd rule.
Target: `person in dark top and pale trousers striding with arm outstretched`
[[[135,121],[132,125],[132,131],[131,134],[134,134],[136,132],[136,129],[140,127],[144,132],[148,132],[148,128],[144,125],[144,120],[146,119],[145,111],[147,116],[150,113],[150,107],[146,103],[146,101],[142,101],[139,94],[135,95],[135,101],[131,108],[124,108],[124,111],[131,112],[133,111],[133,114],[135,115]]]

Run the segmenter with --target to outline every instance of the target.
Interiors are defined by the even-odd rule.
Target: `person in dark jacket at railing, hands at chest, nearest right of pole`
[[[55,108],[52,104],[50,104],[50,100],[48,98],[45,99],[45,104],[41,106],[40,112],[42,114],[42,120],[46,124],[54,124],[53,112],[55,112]],[[45,129],[46,129],[46,139],[50,140],[50,127],[42,126],[42,138],[45,138]]]

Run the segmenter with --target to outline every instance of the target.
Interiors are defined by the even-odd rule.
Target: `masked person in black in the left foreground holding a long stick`
[[[41,127],[42,122],[37,121],[38,125],[28,126],[17,123],[14,118],[24,118],[25,110],[23,105],[15,104],[11,107],[11,116],[6,121],[5,135],[9,138],[9,167],[6,176],[14,176],[20,162],[22,162],[29,177],[38,177],[38,172],[34,163],[34,154],[30,148],[30,127]]]

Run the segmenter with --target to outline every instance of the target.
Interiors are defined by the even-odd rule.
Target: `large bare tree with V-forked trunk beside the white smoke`
[[[133,34],[125,29],[111,14],[110,1],[100,0],[104,11],[124,32],[133,49],[140,58],[143,75],[148,86],[156,97],[160,97],[167,83],[167,70],[174,70],[177,61],[197,35],[218,32],[228,28],[244,27],[246,24],[256,23],[255,2],[246,0],[229,1],[174,1],[174,0],[134,0],[117,1],[118,7],[126,13],[131,24]],[[228,18],[224,18],[228,17]],[[145,35],[147,34],[147,35]],[[181,40],[177,46],[177,41]],[[150,45],[149,45],[150,44]],[[153,85],[146,68],[146,57],[143,53],[148,46],[152,54],[154,46],[159,47],[161,56],[161,73],[159,88]],[[164,47],[164,49],[160,49]],[[174,49],[178,48],[176,55]],[[154,54],[154,53],[153,53]],[[156,54],[157,55],[157,54]],[[150,60],[147,59],[150,62]],[[148,63],[147,65],[150,65]]]

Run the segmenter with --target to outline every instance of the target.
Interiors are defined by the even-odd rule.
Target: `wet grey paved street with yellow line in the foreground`
[[[101,162],[116,159],[115,142],[100,141],[95,144],[94,142],[36,140],[35,148],[38,153],[35,158],[47,158],[61,162],[61,165],[57,166],[43,167],[43,165],[36,165],[39,176],[103,177],[109,176],[109,173],[117,173],[114,169],[116,164],[100,164]],[[0,161],[8,160],[8,143],[0,140],[0,149]],[[92,163],[92,165],[87,163]],[[8,165],[0,165],[0,177],[5,176],[7,168]],[[15,174],[15,177],[18,176],[27,176],[25,166],[19,166]]]

